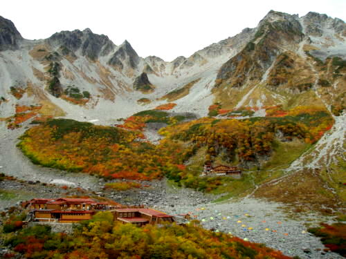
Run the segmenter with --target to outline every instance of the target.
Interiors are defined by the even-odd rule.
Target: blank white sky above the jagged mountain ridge
[[[141,57],[171,61],[257,26],[269,10],[346,20],[345,0],[4,0],[0,15],[26,39],[90,28],[116,45],[127,39]]]

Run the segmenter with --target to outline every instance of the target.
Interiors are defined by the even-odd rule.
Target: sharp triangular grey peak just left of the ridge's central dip
[[[116,66],[118,69],[122,70],[125,67],[137,68],[140,61],[136,51],[132,48],[129,41],[125,40],[109,59],[108,64],[111,66]]]

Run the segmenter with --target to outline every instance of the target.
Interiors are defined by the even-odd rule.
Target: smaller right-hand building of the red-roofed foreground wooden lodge
[[[113,209],[114,219],[123,223],[136,224],[161,224],[163,222],[174,222],[172,215],[167,215],[161,211],[145,208],[119,208]]]

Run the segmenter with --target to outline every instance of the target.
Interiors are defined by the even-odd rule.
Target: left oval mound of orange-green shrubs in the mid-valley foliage
[[[151,180],[161,178],[174,154],[136,141],[136,131],[95,126],[72,119],[50,119],[30,128],[18,146],[35,164],[82,171],[105,178]]]

